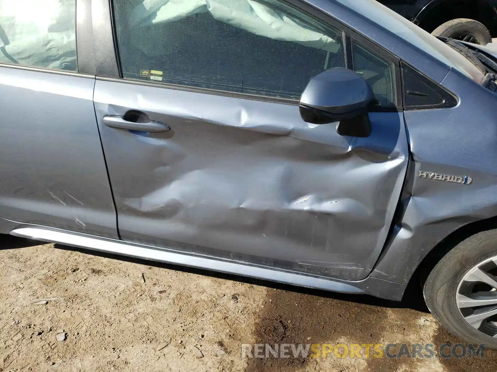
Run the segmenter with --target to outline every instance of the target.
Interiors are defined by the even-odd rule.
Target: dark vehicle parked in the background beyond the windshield
[[[434,36],[486,45],[497,35],[497,0],[378,0]]]

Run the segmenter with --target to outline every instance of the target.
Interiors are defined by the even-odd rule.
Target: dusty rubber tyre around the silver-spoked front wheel
[[[426,306],[445,329],[467,342],[485,344],[491,349],[497,349],[497,338],[476,329],[465,320],[457,305],[456,295],[458,290],[461,293],[459,283],[465,275],[494,256],[497,256],[497,230],[473,235],[443,256],[428,275],[423,288]]]

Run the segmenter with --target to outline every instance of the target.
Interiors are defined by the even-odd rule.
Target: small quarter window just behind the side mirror
[[[373,88],[378,105],[382,108],[396,107],[394,64],[378,57],[356,41],[352,44],[352,56],[354,70]]]

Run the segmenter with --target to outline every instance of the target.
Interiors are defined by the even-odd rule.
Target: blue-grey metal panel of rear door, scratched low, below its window
[[[117,238],[95,80],[0,69],[0,217]],[[0,233],[11,224],[0,219]]]

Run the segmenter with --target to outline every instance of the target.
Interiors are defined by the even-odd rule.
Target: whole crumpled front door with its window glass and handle
[[[123,78],[94,105],[121,239],[367,276],[408,161],[395,61],[283,1],[113,3]],[[373,86],[367,138],[299,115],[336,66]]]

